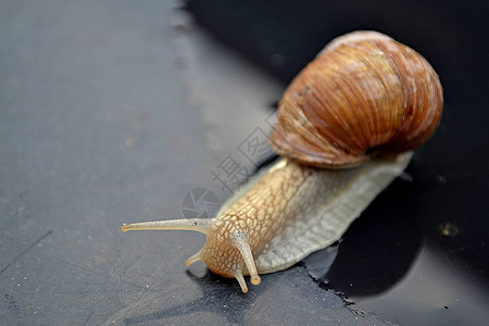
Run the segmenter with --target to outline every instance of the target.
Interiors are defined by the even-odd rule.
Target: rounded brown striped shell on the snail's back
[[[437,128],[442,88],[413,49],[376,32],[333,40],[287,88],[269,143],[322,167],[354,166],[378,151],[422,145]]]

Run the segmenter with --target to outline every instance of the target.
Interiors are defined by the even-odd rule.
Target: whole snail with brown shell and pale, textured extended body
[[[206,235],[202,260],[248,291],[340,239],[439,125],[442,88],[430,64],[377,32],[329,42],[291,82],[268,139],[283,158],[251,178],[215,218],[123,224],[123,231]]]

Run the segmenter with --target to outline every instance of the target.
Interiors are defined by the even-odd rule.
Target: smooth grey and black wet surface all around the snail
[[[0,7],[0,324],[488,319],[488,4]],[[201,264],[185,272],[200,235],[118,231],[122,222],[180,217],[196,187],[228,197],[210,171],[328,40],[355,29],[422,53],[446,105],[408,174],[339,244],[242,294]]]

